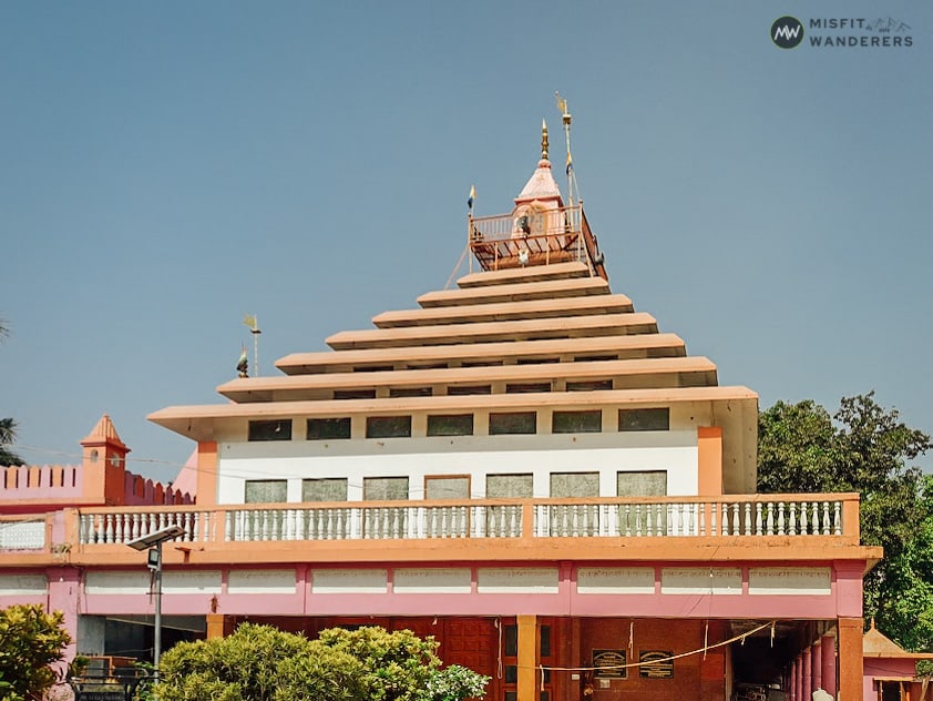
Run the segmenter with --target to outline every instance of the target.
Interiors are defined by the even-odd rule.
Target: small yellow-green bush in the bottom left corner
[[[38,701],[57,681],[52,664],[64,659],[71,638],[61,611],[39,605],[0,610],[0,700]]]

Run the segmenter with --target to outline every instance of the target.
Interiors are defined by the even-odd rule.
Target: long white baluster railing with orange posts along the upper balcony
[[[82,546],[167,526],[194,543],[520,538],[849,537],[858,495],[475,499],[80,509]]]

